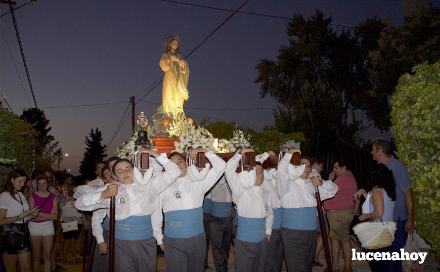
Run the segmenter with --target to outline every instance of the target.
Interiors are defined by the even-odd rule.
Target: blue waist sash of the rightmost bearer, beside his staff
[[[283,208],[282,227],[298,230],[315,230],[316,207]]]

